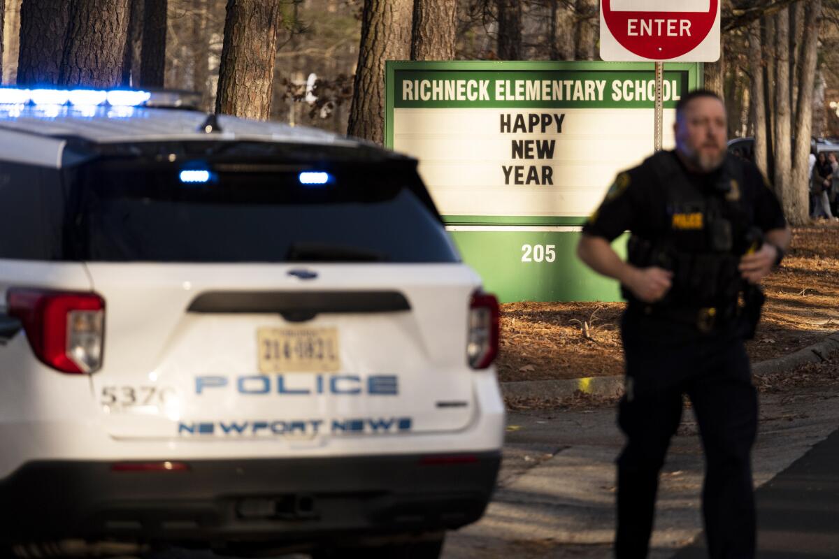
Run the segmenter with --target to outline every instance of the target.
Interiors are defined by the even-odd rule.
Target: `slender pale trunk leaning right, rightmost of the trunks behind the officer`
[[[800,46],[798,102],[795,107],[795,153],[789,201],[784,213],[792,225],[804,225],[809,209],[810,136],[813,125],[813,88],[816,82],[816,55],[821,28],[821,0],[810,0],[805,12],[804,44]]]

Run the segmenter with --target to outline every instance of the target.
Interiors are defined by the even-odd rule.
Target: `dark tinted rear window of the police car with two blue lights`
[[[99,160],[70,179],[83,261],[451,262],[409,162]]]

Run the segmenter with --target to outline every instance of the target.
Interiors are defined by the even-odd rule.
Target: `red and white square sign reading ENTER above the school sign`
[[[721,0],[601,0],[600,56],[610,62],[714,62]]]

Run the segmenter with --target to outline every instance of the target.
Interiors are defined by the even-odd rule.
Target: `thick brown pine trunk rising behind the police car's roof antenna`
[[[217,113],[271,116],[279,18],[279,0],[227,0]]]

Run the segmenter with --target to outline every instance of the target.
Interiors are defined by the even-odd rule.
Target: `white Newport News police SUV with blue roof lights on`
[[[0,90],[0,546],[438,556],[498,305],[415,162],[169,101]]]

